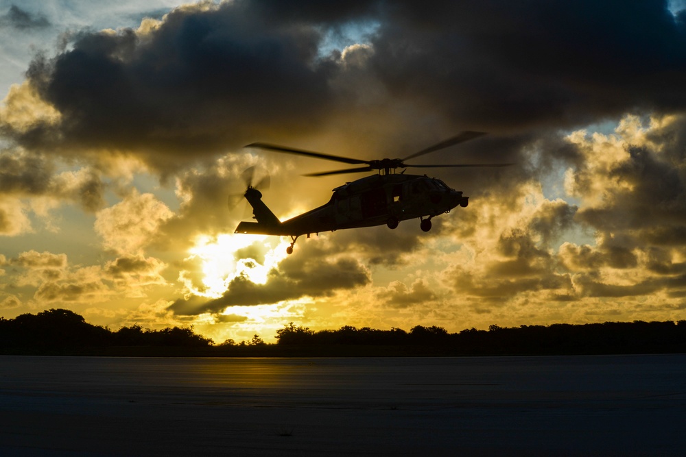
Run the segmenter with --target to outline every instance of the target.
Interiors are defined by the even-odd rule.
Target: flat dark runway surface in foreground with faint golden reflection
[[[0,356],[2,456],[684,456],[686,355]]]

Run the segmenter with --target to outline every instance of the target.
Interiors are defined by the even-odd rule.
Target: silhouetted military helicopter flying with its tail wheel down
[[[427,175],[406,175],[409,167],[476,167],[476,166],[509,166],[512,164],[406,164],[410,160],[424,154],[445,149],[464,143],[484,135],[484,132],[464,131],[447,140],[417,151],[403,159],[384,158],[380,160],[360,160],[330,154],[305,151],[292,147],[273,145],[270,143],[251,143],[246,148],[258,148],[279,153],[296,154],[324,160],[333,160],[346,164],[359,164],[358,168],[309,173],[304,176],[340,175],[344,173],[364,173],[377,171],[377,174],[362,177],[333,189],[333,195],[328,203],[314,210],[300,214],[287,221],[280,221],[278,217],[262,201],[259,188],[263,182],[253,185],[253,169],[244,172],[248,184],[243,196],[252,206],[253,219],[257,222],[241,222],[234,233],[261,234],[274,236],[290,236],[292,243],[286,248],[287,254],[293,253],[296,240],[302,235],[333,232],[335,230],[359,227],[373,227],[386,224],[388,228],[398,227],[401,221],[419,219],[423,232],[431,230],[431,218],[439,214],[450,212],[460,206],[466,208],[469,197],[465,197],[460,190],[450,188],[445,182]],[[403,169],[396,173],[397,169]]]

